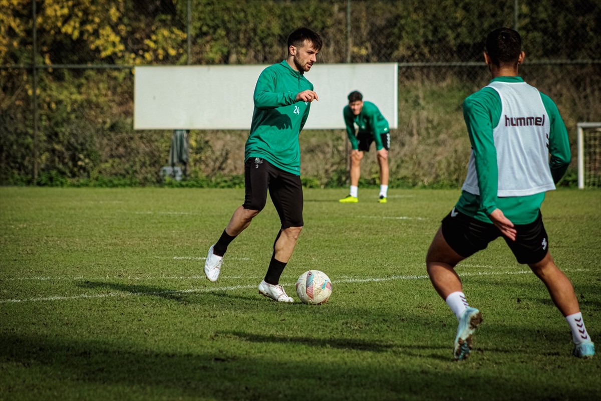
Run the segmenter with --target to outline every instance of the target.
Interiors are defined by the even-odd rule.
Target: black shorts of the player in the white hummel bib
[[[442,235],[453,250],[460,256],[471,256],[488,246],[489,242],[502,236],[519,263],[537,263],[549,251],[549,238],[543,215],[529,224],[516,224],[516,240],[502,236],[492,223],[486,223],[464,215],[455,208],[442,219]]]

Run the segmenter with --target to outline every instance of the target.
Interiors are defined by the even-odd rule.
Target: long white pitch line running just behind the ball
[[[568,270],[568,269],[566,269]],[[588,269],[573,269],[575,272],[584,272],[588,271]],[[531,274],[530,270],[519,270],[515,272],[475,272],[475,273],[463,273],[460,274],[461,277],[468,276],[489,276],[489,275],[513,275],[513,274]],[[388,277],[371,277],[371,278],[342,278],[340,280],[335,280],[334,285],[340,283],[374,283],[378,281],[395,281],[395,280],[420,280],[428,278],[427,275],[392,275]],[[294,283],[286,283],[284,286],[294,286]],[[206,288],[198,288],[198,289],[189,289],[189,290],[165,290],[165,291],[157,291],[157,292],[109,292],[105,294],[81,294],[81,295],[73,295],[73,296],[48,296],[48,297],[39,297],[39,298],[29,298],[29,299],[0,299],[0,304],[7,303],[19,303],[19,302],[40,302],[40,301],[65,301],[69,299],[82,299],[82,298],[108,298],[108,297],[116,297],[116,296],[131,296],[131,295],[177,295],[177,294],[189,294],[189,293],[209,293],[209,292],[218,292],[218,291],[233,291],[240,289],[251,289],[255,288],[256,284],[247,284],[240,286],[227,286],[227,287],[206,287]]]

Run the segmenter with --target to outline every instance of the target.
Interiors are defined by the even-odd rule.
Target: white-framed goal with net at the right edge
[[[578,188],[601,188],[601,123],[578,123]]]

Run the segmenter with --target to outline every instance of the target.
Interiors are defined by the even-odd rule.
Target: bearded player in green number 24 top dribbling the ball
[[[255,87],[255,108],[245,147],[244,203],[234,211],[221,237],[210,247],[204,265],[207,278],[216,281],[228,245],[263,210],[269,190],[281,228],[258,290],[278,302],[294,301],[279,285],[279,277],[304,225],[299,134],[311,102],[319,100],[305,73],[317,61],[322,38],[311,29],[299,28],[288,36],[287,44],[287,58],[264,69]]]

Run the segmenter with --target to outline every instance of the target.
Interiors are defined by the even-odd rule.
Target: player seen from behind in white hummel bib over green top
[[[468,174],[426,256],[433,286],[459,320],[457,360],[469,356],[482,314],[469,306],[455,266],[499,236],[517,262],[545,283],[572,330],[573,355],[592,358],[595,353],[572,283],[549,253],[540,213],[545,192],[555,189],[570,163],[566,126],[555,103],[518,76],[521,46],[520,35],[509,28],[486,38],[484,61],[492,81],[463,102],[472,145]]]

